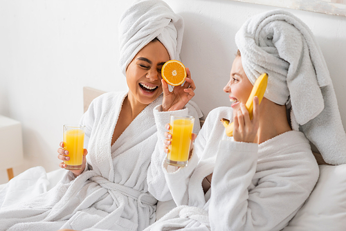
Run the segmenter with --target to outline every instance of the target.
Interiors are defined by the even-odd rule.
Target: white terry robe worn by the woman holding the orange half
[[[149,104],[111,147],[126,95],[105,93],[83,115],[89,142],[85,171],[77,178],[66,171],[48,192],[2,208],[0,230],[143,230],[155,221],[157,201],[147,190],[147,169],[157,140],[153,109],[163,97]],[[198,118],[197,110],[187,104],[181,111]]]

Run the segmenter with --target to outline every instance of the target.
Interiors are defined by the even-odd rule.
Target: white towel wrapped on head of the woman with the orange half
[[[120,17],[119,66],[122,73],[125,75],[132,59],[156,37],[167,49],[170,59],[180,60],[183,31],[183,17],[176,15],[164,1],[135,1]]]

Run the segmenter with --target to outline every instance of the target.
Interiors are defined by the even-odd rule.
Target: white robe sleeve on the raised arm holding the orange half
[[[147,183],[148,191],[158,200],[158,201],[169,201],[172,199],[172,195],[167,186],[165,179],[165,167],[163,163],[165,161],[166,155],[163,151],[163,140],[165,140],[164,133],[166,131],[165,124],[170,122],[170,115],[192,115],[194,116],[194,133],[199,133],[201,129],[199,124],[199,118],[201,117],[197,109],[192,107],[190,104],[186,104],[185,108],[178,111],[162,111],[161,105],[154,108],[154,118],[157,128],[157,142],[152,154],[152,160],[147,172]]]

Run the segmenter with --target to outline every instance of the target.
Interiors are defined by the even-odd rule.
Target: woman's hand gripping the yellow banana
[[[240,109],[233,116],[233,138],[238,142],[255,142],[259,127],[259,101],[257,96],[253,98],[253,119],[250,120],[248,109],[244,103],[240,103]]]

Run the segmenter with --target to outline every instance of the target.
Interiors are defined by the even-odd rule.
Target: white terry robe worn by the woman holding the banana
[[[164,155],[157,154],[163,175],[155,179],[161,189],[152,193],[158,200],[169,197],[168,187],[178,206],[145,231],[281,230],[308,198],[319,172],[303,133],[288,131],[260,145],[235,142],[221,118],[233,118],[232,109],[209,113],[187,167],[168,173]],[[211,173],[204,194],[202,181]]]

